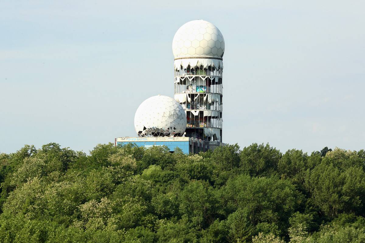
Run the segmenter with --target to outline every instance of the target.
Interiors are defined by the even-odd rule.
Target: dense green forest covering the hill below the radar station
[[[1,243],[365,242],[364,150],[50,143],[0,166]]]

